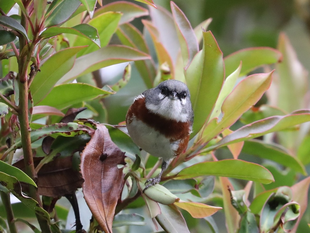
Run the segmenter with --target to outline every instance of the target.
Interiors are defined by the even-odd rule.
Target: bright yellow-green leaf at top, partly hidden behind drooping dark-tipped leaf
[[[115,32],[118,22],[122,14],[119,12],[106,12],[89,20],[87,24],[91,25],[98,31],[100,39],[100,47],[104,47],[110,41],[113,33]],[[74,46],[88,45],[88,47],[78,53],[78,57],[89,54],[98,50],[98,46],[84,37],[77,37]]]

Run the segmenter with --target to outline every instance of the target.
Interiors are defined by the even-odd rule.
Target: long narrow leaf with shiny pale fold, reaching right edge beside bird
[[[206,151],[215,150],[232,143],[257,138],[259,136],[272,133],[275,131],[284,130],[294,125],[310,121],[309,110],[299,110],[292,112],[286,116],[272,116],[266,119],[255,121],[249,125],[245,125],[240,129],[234,131],[232,134],[227,135],[218,143],[206,148]]]

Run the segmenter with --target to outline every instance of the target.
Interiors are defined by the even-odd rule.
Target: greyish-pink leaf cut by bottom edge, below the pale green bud
[[[156,216],[156,220],[164,231],[189,233],[181,212],[174,205],[159,204],[159,206],[162,213]]]

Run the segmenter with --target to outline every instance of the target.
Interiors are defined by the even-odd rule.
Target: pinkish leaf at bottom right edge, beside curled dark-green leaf
[[[292,232],[295,232],[297,230],[298,223],[300,219],[303,217],[303,214],[305,213],[307,206],[308,206],[308,189],[310,185],[310,177],[307,177],[303,179],[302,181],[299,181],[298,183],[294,184],[291,188],[293,191],[293,201],[296,201],[300,205],[300,216],[292,229]]]

